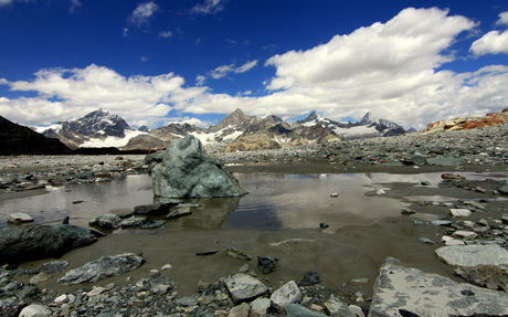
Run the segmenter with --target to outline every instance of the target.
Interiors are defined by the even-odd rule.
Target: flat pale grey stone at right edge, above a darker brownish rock
[[[442,246],[435,253],[449,265],[508,265],[508,251],[496,244]]]

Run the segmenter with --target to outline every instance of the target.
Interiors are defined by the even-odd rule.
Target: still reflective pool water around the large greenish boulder
[[[437,187],[441,173],[393,175],[287,175],[236,173],[248,191],[241,198],[194,199],[193,213],[168,221],[158,231],[187,229],[241,229],[278,231],[282,229],[371,225],[387,216],[400,214],[410,202],[401,198],[378,196],[378,189],[389,191],[389,184],[419,187],[423,180]],[[468,175],[468,178],[475,178]],[[478,176],[478,178],[485,176]],[[339,197],[330,197],[338,193]],[[133,209],[154,202],[150,176],[128,176],[106,183],[71,184],[49,188],[47,193],[23,199],[0,201],[0,229],[9,213],[24,212],[35,223],[60,223],[68,215],[72,224],[88,221],[112,209]],[[121,233],[117,231],[116,233]]]

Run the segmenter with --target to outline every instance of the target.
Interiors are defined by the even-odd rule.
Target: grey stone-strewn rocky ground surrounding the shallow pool
[[[465,199],[445,203],[417,201],[401,211],[406,220],[399,224],[408,222],[414,231],[435,230],[441,241],[421,236],[419,243],[443,245],[436,255],[449,265],[449,271],[455,267],[455,274],[464,279],[455,278],[457,283],[449,276],[423,273],[389,258],[381,265],[373,292],[361,286],[326,287],[319,283],[319,273],[310,272],[296,283],[286,281],[274,286],[269,273],[260,273],[261,267],[251,263],[231,271],[229,277],[200,282],[193,295],[182,296],[178,283],[166,275],[170,267],[161,266],[125,283],[60,292],[38,286],[41,285],[38,278],[64,271],[65,263],[31,270],[4,266],[0,271],[2,316],[508,316],[508,211],[506,200],[496,200],[508,193],[508,184],[459,176],[465,170],[506,172],[508,126],[215,155],[230,169],[241,172],[452,170],[453,173],[443,176],[437,190],[461,190]],[[2,157],[0,201],[31,194],[45,186],[146,173],[151,162],[144,159],[144,156]],[[406,189],[393,186],[392,192],[398,190]],[[447,211],[445,216],[443,210]],[[412,218],[434,211],[441,215],[436,220]],[[367,282],[351,283],[366,285]],[[399,292],[396,296],[394,290]],[[29,309],[27,306],[33,308],[32,313],[25,310],[20,315],[23,308]]]

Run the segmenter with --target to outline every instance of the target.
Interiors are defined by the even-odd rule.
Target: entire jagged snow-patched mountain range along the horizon
[[[328,140],[388,137],[406,133],[392,121],[367,113],[357,123],[319,118],[313,112],[305,119],[286,123],[273,115],[248,116],[236,109],[218,125],[201,128],[189,124],[169,124],[157,129],[131,129],[119,116],[103,109],[73,121],[38,128],[49,138],[57,138],[71,149],[117,147],[123,150],[165,149],[171,141],[193,135],[209,150],[237,151],[304,146]]]

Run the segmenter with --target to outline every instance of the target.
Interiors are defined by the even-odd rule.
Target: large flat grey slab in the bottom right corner
[[[508,296],[505,293],[456,283],[437,274],[401,266],[395,258],[387,258],[374,286],[369,316],[504,316],[507,314]]]

